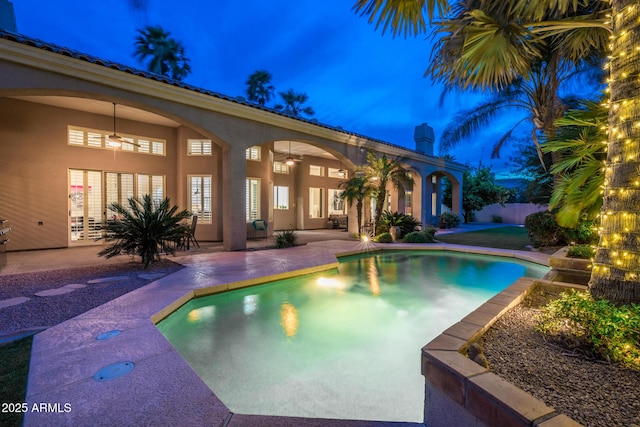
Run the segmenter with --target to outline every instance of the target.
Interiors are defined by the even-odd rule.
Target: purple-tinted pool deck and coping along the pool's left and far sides
[[[385,249],[467,252],[548,265],[545,256],[529,252],[448,244],[363,245],[354,241],[325,241],[284,250],[185,257],[178,261],[186,268],[34,337],[24,425],[176,423],[234,426],[247,425],[244,424],[249,422],[247,420],[251,420],[250,425],[274,426],[423,425],[234,414],[155,326],[194,296],[253,286],[264,283],[265,278],[272,281],[335,268],[338,257]],[[266,271],[272,274],[265,276]],[[211,284],[214,286],[209,286]],[[114,329],[122,333],[108,340],[95,339]],[[93,379],[102,367],[124,361],[135,365],[128,375],[109,381]]]

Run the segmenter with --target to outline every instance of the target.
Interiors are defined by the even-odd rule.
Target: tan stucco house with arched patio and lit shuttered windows
[[[355,233],[355,209],[337,195],[368,150],[412,171],[389,209],[434,223],[447,177],[460,213],[465,167],[433,155],[426,124],[411,150],[4,30],[0,76],[9,250],[99,244],[108,206],[143,194],[194,212],[197,239],[226,250],[246,247],[255,219],[272,233],[348,214]]]

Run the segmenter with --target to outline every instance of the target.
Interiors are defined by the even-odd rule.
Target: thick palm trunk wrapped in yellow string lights
[[[600,243],[589,289],[617,304],[640,302],[640,7],[612,0],[609,144]]]

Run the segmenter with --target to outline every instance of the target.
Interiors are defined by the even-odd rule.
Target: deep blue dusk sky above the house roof
[[[437,141],[455,113],[481,99],[450,94],[441,103],[442,88],[423,77],[430,38],[383,36],[352,11],[355,0],[148,0],[143,11],[127,0],[12,3],[19,33],[141,69],[133,56],[136,30],[160,25],[185,47],[192,69],[186,83],[244,96],[247,77],[265,69],[276,93],[307,93],[322,123],[414,148],[414,127],[426,122],[436,154],[443,154]],[[450,154],[508,173],[509,152],[495,160],[490,152],[516,120],[496,121]]]

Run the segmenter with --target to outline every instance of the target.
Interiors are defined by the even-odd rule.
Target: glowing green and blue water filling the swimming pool
[[[236,413],[422,422],[420,349],[547,267],[431,251],[198,298],[158,328]]]

